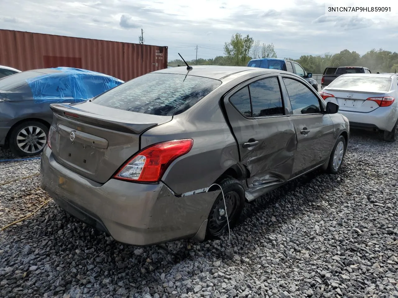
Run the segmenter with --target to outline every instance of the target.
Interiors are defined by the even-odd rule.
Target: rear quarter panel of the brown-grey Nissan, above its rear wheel
[[[224,88],[216,89],[173,120],[141,136],[140,148],[174,139],[193,139],[189,153],[176,159],[162,181],[177,195],[208,188],[239,162],[236,141],[220,108]]]

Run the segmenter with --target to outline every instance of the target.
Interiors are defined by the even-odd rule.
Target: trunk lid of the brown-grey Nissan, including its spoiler
[[[119,110],[89,101],[72,106],[51,104],[51,109],[54,159],[99,183],[109,180],[140,150],[144,131],[172,120],[172,116]]]

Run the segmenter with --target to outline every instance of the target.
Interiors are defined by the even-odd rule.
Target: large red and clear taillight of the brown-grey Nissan
[[[146,147],[129,159],[113,178],[131,182],[159,182],[168,166],[187,154],[192,145],[193,139],[182,139]]]

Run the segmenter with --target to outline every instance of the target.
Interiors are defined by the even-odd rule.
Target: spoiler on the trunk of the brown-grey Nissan
[[[80,110],[74,106],[69,106],[68,104],[50,104],[50,108],[55,114],[61,117],[130,134],[140,134],[145,130],[158,125],[158,123],[134,122],[125,119],[112,118],[105,115],[98,115]]]

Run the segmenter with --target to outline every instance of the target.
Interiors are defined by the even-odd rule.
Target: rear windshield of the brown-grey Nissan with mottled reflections
[[[97,97],[93,103],[120,110],[173,116],[184,112],[221,85],[207,77],[146,74]]]

